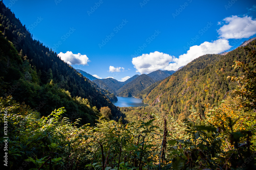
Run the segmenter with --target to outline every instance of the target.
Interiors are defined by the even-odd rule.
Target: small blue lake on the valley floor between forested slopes
[[[119,107],[140,107],[140,106],[148,106],[148,104],[142,103],[143,99],[137,99],[135,97],[120,97],[116,96],[118,101],[112,102],[115,106]]]

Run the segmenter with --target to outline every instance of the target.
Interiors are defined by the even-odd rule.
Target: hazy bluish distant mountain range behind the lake
[[[128,80],[120,82],[113,78],[98,79],[85,71],[79,69],[77,69],[77,71],[96,83],[100,88],[108,90],[114,95],[127,97],[136,96],[139,92],[154,84],[155,82],[161,81],[175,73],[173,70],[156,70],[149,74],[136,74]]]

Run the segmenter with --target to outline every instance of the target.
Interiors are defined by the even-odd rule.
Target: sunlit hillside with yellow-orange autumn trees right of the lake
[[[255,50],[255,41],[249,43],[248,47]],[[201,56],[163,80],[144,102],[162,107],[176,118],[188,116],[191,105],[203,115],[212,104],[219,103],[226,92],[234,89],[235,84],[227,76],[240,74],[233,70],[233,61],[251,64],[247,54],[245,47],[239,47],[225,56]]]

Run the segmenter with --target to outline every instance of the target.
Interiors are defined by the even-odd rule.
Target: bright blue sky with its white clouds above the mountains
[[[232,50],[256,33],[255,1],[3,2],[33,38],[74,68],[122,81],[177,70],[201,55]]]

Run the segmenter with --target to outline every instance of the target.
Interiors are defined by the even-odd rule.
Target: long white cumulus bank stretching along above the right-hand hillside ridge
[[[155,51],[150,54],[143,54],[132,59],[136,72],[151,73],[158,69],[161,70],[177,70],[181,66],[185,66],[192,60],[205,54],[218,54],[231,48],[229,41],[221,38],[213,42],[204,42],[200,45],[194,45],[189,48],[186,54],[180,55],[179,58],[168,54]]]

